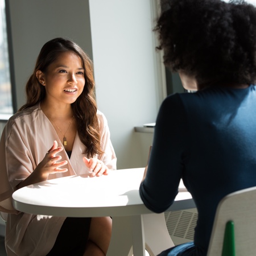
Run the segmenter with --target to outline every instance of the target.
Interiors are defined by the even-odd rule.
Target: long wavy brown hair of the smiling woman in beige
[[[64,38],[55,38],[44,44],[36,60],[34,72],[26,84],[27,103],[18,111],[39,104],[39,102],[46,97],[46,89],[38,81],[36,72],[39,70],[46,72],[48,66],[53,63],[61,53],[67,51],[74,52],[80,57],[85,70],[84,89],[71,106],[76,118],[80,140],[86,147],[85,153],[93,157],[96,154],[103,153],[101,150],[97,104],[94,94],[95,83],[93,78],[93,65],[89,56],[76,43]]]

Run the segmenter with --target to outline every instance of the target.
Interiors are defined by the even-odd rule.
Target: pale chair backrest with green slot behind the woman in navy
[[[230,252],[222,254],[225,230],[231,235],[234,233],[234,242],[229,237]],[[232,243],[235,253],[232,252]],[[218,204],[207,256],[232,255],[256,255],[256,187],[230,193]]]

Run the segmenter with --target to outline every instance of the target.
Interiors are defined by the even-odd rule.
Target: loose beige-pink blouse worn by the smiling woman
[[[108,123],[104,114],[97,112],[100,123],[102,160],[110,170],[116,170],[116,156],[110,141]],[[40,105],[16,113],[9,119],[0,143],[0,212],[7,218],[6,250],[9,256],[46,255],[55,243],[64,217],[40,216],[18,212],[12,206],[11,195],[16,186],[28,177],[43,160],[53,141],[61,141]],[[86,174],[82,156],[85,151],[76,134],[71,158],[65,150],[59,155],[68,161],[68,171],[51,174],[48,179]],[[98,157],[97,155],[95,156]],[[86,195],[85,195],[86,196]]]

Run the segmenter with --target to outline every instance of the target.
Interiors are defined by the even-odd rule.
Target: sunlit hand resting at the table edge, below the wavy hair
[[[98,160],[97,158],[86,158],[85,156],[82,158],[84,160],[85,166],[89,168],[89,171],[92,173],[90,176],[101,176],[109,174],[109,168],[105,166],[105,164]]]

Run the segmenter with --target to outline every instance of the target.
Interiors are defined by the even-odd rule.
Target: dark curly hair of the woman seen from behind
[[[220,0],[169,0],[163,6],[154,31],[171,71],[199,84],[255,84],[256,7]]]

